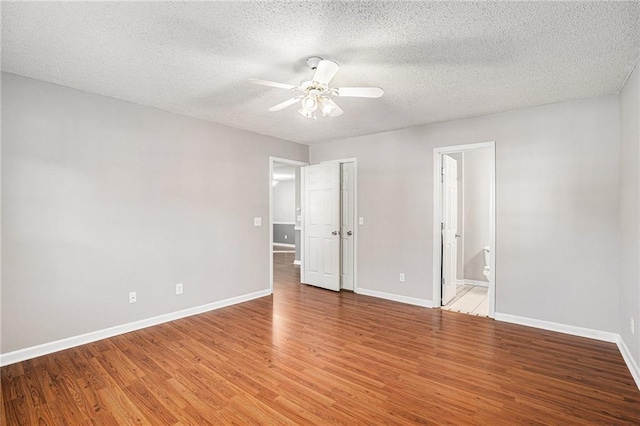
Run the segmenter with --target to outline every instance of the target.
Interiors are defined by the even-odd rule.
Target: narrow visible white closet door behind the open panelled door
[[[340,164],[340,285],[353,291],[354,164]]]

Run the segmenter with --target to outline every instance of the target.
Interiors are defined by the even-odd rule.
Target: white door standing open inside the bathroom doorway
[[[456,296],[458,163],[442,156],[442,305]]]

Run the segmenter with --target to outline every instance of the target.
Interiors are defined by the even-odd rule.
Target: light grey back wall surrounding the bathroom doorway
[[[613,95],[313,145],[310,160],[358,158],[358,287],[428,301],[433,148],[496,141],[496,311],[617,332],[619,131]]]

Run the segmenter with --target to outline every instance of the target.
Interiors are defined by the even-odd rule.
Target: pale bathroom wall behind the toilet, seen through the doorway
[[[473,150],[464,153],[464,278],[489,280],[484,271],[484,247],[490,244],[489,220],[491,201],[492,151]]]

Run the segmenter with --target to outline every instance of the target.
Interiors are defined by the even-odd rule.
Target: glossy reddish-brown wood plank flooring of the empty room
[[[8,425],[640,424],[614,344],[298,283],[2,368]]]

